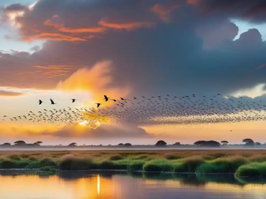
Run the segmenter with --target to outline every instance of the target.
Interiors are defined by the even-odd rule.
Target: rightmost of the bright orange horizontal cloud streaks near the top
[[[108,28],[126,29],[127,31],[143,27],[152,28],[156,25],[156,23],[154,22],[109,23],[106,22],[104,19],[101,19],[98,24]]]

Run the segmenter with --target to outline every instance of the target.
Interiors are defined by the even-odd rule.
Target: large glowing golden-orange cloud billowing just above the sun
[[[96,63],[92,68],[82,68],[73,73],[65,81],[60,81],[56,89],[64,91],[85,91],[92,94],[93,101],[85,101],[85,106],[94,106],[94,103],[103,102],[103,95],[110,98],[118,96],[126,96],[130,92],[130,88],[110,88],[111,78],[111,61],[103,61]],[[109,100],[103,103],[101,107],[112,105],[113,101]]]

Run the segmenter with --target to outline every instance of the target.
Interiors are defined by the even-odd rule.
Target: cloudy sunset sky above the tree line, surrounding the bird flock
[[[4,0],[0,8],[0,110],[8,118],[51,109],[49,98],[56,109],[93,107],[104,94],[221,93],[266,102],[263,0]],[[0,142],[192,144],[249,137],[264,143],[264,125],[102,124],[80,130],[7,119],[0,122]]]

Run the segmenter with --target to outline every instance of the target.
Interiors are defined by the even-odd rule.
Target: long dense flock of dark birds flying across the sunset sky
[[[230,98],[230,96],[222,97],[216,94],[212,97],[198,97],[193,94],[181,97],[165,95],[111,99],[104,95],[103,99],[105,102],[113,103],[104,107],[102,107],[103,102],[95,103],[95,108],[43,109],[38,113],[30,111],[25,115],[12,117],[10,120],[29,120],[57,125],[80,123],[86,120],[93,126],[95,122],[174,125],[266,119],[266,105],[263,105],[262,101],[251,102],[250,98],[241,96]],[[78,99],[71,100],[72,103],[78,101]],[[56,104],[52,99],[50,101],[51,105]],[[38,103],[41,105],[44,102],[39,100]]]

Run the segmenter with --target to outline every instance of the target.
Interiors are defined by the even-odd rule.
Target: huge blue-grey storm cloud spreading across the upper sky
[[[14,85],[16,67],[34,78],[33,66],[93,66],[101,60],[114,61],[117,86],[130,85],[143,95],[228,94],[263,83],[266,71],[256,70],[266,63],[261,34],[251,29],[232,41],[238,27],[229,19],[255,20],[262,14],[255,8],[264,3],[234,1],[233,13],[228,2],[40,0],[17,19],[19,32],[25,40],[48,41],[31,55],[2,55],[0,68],[12,75],[0,83]],[[243,14],[247,8],[252,15]]]

